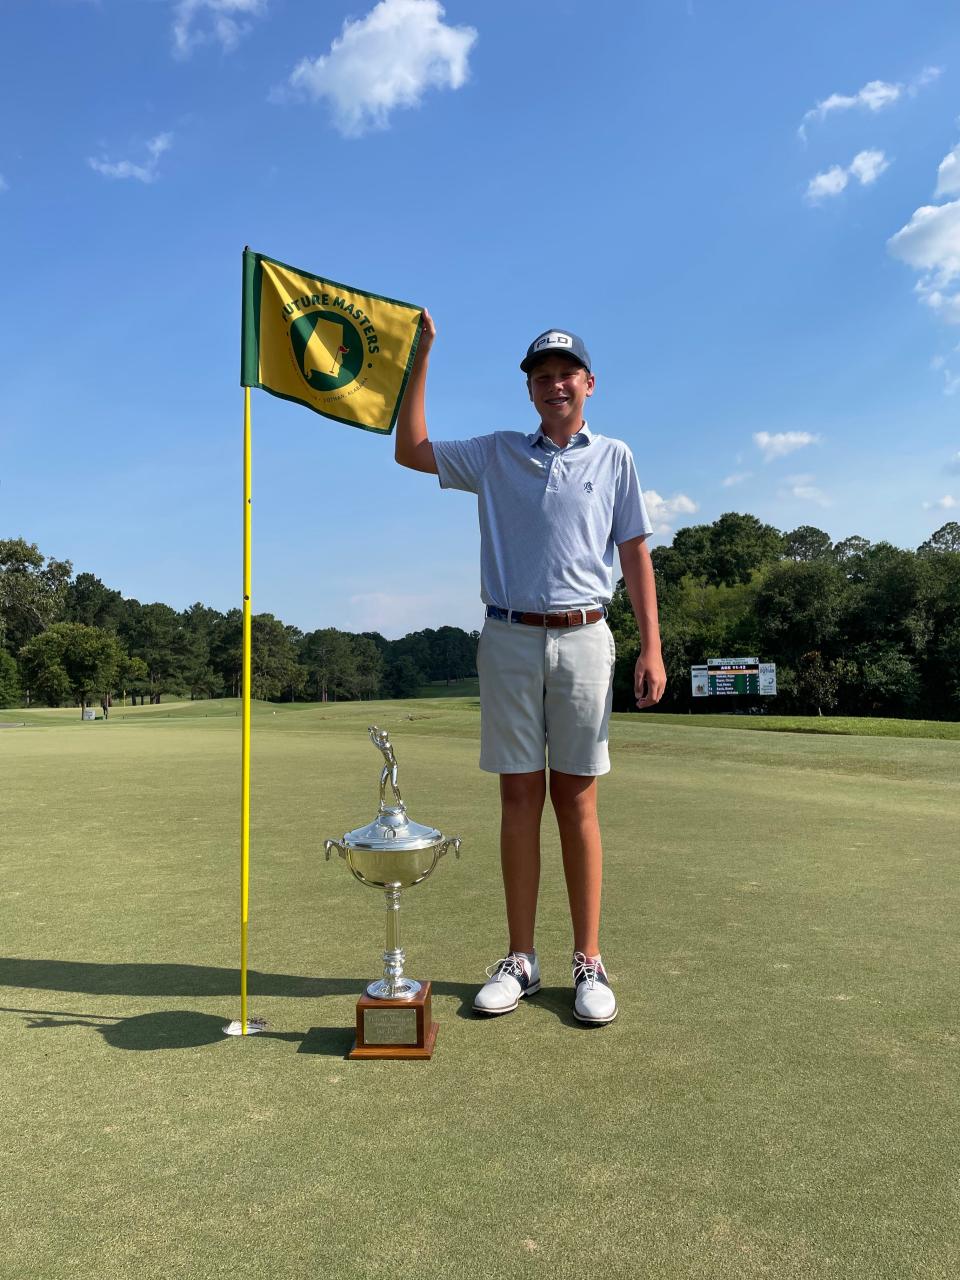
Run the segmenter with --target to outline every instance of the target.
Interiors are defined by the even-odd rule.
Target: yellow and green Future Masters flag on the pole
[[[389,435],[422,316],[410,302],[244,250],[241,385]]]

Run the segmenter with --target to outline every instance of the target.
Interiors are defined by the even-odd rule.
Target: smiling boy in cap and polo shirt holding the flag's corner
[[[549,790],[573,925],[573,1014],[602,1025],[617,1016],[599,941],[596,778],[609,771],[614,660],[605,605],[613,595],[616,544],[640,628],[636,704],[652,707],[667,682],[646,548],[652,526],[630,449],[594,435],[584,419],[595,378],[576,334],[548,329],[521,361],[540,415],[535,433],[495,431],[433,444],[424,406],[435,337],[424,311],[397,420],[396,457],[402,466],[439,476],[444,489],[475,493],[479,504],[480,595],[486,605],[477,650],[480,768],[500,778],[509,946],[486,970],[489,980],[474,1009],[511,1012],[540,988],[534,923],[540,819]]]

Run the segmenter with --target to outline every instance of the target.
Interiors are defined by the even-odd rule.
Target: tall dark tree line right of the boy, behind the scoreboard
[[[777,664],[778,713],[960,719],[960,524],[916,550],[812,525],[781,532],[728,512],[653,550],[667,667],[662,707],[728,710],[691,698],[691,666],[755,657]],[[636,625],[622,584],[614,705],[631,705]],[[745,699],[736,700],[744,705]],[[772,704],[772,705],[771,705]]]

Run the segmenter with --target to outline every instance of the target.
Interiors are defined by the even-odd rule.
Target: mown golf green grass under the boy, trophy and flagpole
[[[5,713],[6,714],[6,713]],[[544,987],[503,946],[472,698],[256,705],[238,1016],[236,704],[0,730],[0,1231],[10,1277],[954,1280],[960,742],[613,719],[604,957],[571,1012],[545,820]],[[380,895],[323,859],[411,817],[462,859],[404,895],[431,1062],[348,1062]]]

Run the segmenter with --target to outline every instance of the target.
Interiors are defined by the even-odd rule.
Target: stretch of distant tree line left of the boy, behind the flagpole
[[[476,632],[426,628],[387,640],[251,620],[251,694],[274,701],[411,698],[476,675]],[[23,539],[0,540],[0,707],[238,698],[243,614],[141,604]]]

